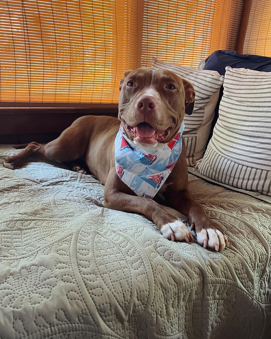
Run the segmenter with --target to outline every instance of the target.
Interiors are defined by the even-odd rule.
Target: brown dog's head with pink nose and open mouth
[[[155,147],[178,132],[185,113],[192,114],[192,84],[166,69],[138,68],[120,81],[119,119],[136,144]]]

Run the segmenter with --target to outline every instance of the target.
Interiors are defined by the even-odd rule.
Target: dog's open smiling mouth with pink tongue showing
[[[170,134],[172,127],[165,131],[156,131],[149,123],[141,122],[136,126],[129,126],[124,121],[127,133],[137,143],[155,145],[158,141],[165,141]]]

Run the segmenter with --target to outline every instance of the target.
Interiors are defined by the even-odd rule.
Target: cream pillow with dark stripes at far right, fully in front
[[[224,94],[202,175],[271,195],[271,73],[226,67]]]

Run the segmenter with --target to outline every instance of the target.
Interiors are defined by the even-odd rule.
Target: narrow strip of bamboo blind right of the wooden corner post
[[[270,0],[251,1],[243,53],[271,57]]]

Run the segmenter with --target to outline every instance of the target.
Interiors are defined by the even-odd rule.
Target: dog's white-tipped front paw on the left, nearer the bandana
[[[193,240],[193,236],[190,230],[186,227],[186,225],[176,220],[174,222],[170,222],[161,227],[161,233],[164,237],[169,240],[177,240],[177,241],[190,241]]]

